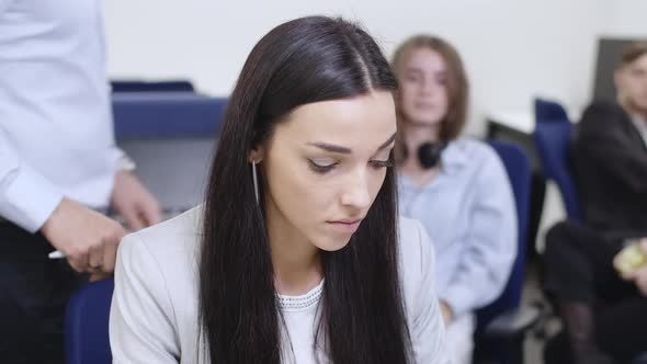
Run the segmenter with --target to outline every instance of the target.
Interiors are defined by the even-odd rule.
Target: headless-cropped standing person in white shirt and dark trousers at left
[[[101,5],[0,0],[2,363],[63,363],[80,273],[110,274],[125,234],[100,212],[134,230],[160,219],[113,138]]]

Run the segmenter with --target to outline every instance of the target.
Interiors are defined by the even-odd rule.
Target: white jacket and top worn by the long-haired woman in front
[[[197,363],[198,207],[122,241],[110,315],[114,363]],[[445,331],[434,284],[434,255],[420,223],[400,219],[400,271],[416,363],[445,364]],[[315,364],[321,286],[280,296],[298,364]],[[325,353],[317,353],[325,357]]]

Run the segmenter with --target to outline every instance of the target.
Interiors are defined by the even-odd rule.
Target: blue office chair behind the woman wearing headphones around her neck
[[[475,333],[475,362],[501,364],[523,363],[525,332],[538,320],[540,309],[520,307],[525,277],[525,254],[529,225],[531,164],[523,150],[508,141],[492,140],[506,170],[517,205],[518,254],[503,293],[492,304],[479,309]]]

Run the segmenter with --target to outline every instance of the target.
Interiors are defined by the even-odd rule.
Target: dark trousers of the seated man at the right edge
[[[598,345],[625,363],[647,351],[647,297],[613,269],[621,248],[621,240],[581,224],[557,224],[546,236],[543,283],[553,299],[589,305]],[[545,355],[546,363],[568,363],[565,332],[547,344]]]

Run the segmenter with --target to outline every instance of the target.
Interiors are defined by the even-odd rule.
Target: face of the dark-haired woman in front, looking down
[[[395,134],[387,91],[295,109],[256,151],[270,236],[345,247],[382,187]]]

